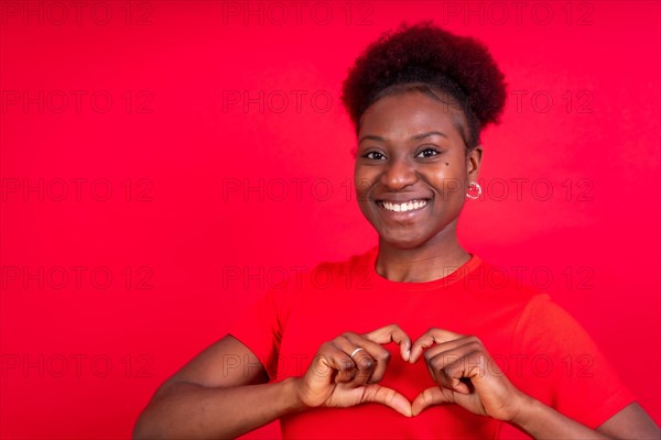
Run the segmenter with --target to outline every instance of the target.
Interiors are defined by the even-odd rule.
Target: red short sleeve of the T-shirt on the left
[[[278,373],[285,292],[283,288],[270,288],[263,293],[239,316],[229,330],[229,334],[254,353],[271,381]]]

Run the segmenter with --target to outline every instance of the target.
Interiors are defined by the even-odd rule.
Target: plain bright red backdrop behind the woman
[[[339,87],[421,19],[510,87],[465,246],[528,267],[659,422],[659,2],[513,3],[3,1],[0,436],[128,438],[260,287],[373,245]]]

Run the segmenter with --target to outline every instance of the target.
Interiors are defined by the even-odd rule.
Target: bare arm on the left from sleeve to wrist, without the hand
[[[293,381],[267,382],[257,356],[227,336],[161,385],[133,438],[238,437],[299,409]]]

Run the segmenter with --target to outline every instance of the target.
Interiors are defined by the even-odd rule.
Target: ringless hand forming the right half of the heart
[[[437,404],[457,404],[474,414],[511,421],[529,398],[517,389],[476,337],[430,329],[411,348],[409,362],[423,355],[437,387],[412,404],[416,416]]]

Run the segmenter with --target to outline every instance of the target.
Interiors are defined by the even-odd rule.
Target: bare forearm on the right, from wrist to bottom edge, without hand
[[[534,439],[610,439],[555,409],[530,398],[511,425]]]

